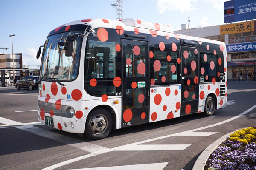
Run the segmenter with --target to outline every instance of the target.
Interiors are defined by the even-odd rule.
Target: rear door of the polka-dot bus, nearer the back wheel
[[[198,48],[181,46],[181,115],[198,112]]]

